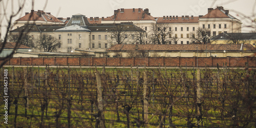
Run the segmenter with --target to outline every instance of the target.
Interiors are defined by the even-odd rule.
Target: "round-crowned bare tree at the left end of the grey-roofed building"
[[[37,44],[40,49],[44,49],[45,52],[54,52],[60,47],[60,41],[52,37],[49,34],[42,34],[37,39]]]

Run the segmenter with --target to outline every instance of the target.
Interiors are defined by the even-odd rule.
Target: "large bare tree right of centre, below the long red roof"
[[[173,33],[169,28],[171,28],[170,24],[152,24],[150,32],[152,44],[167,44],[169,35]]]

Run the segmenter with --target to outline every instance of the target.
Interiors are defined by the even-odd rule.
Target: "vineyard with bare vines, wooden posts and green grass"
[[[256,72],[4,67],[0,127],[256,127]]]

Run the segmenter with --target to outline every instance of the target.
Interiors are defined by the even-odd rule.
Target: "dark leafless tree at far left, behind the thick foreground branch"
[[[8,39],[10,42],[18,42],[18,37],[19,37],[20,33],[18,34],[10,34],[8,36]],[[28,46],[30,48],[35,48],[34,45],[34,37],[29,35],[29,34],[23,34],[23,36],[20,38],[19,42],[21,45],[25,45]]]

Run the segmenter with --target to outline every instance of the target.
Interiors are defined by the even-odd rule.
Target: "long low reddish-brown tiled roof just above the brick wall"
[[[107,51],[132,51],[136,45],[115,45]],[[138,51],[240,51],[241,45],[230,44],[208,44],[208,45],[138,45]],[[243,49],[247,51],[256,51],[250,44],[244,44]]]

